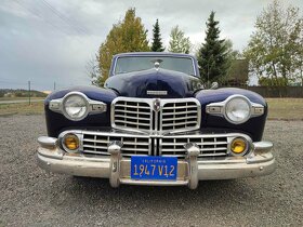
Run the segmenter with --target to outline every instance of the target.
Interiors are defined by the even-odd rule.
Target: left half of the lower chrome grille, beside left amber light
[[[93,134],[83,132],[82,152],[92,155],[108,155],[107,147],[113,141],[123,143],[121,148],[122,156],[150,155],[150,138],[148,136],[124,135],[108,133]]]

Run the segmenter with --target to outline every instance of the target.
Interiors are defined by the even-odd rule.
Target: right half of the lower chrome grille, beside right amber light
[[[186,156],[183,147],[186,143],[196,143],[200,148],[199,157],[224,157],[227,156],[227,137],[216,135],[205,136],[164,136],[160,139],[161,156]]]

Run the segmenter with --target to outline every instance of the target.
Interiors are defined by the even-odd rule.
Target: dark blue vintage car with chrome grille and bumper
[[[265,99],[241,89],[203,89],[194,56],[115,55],[104,88],[77,86],[44,102],[48,136],[38,164],[120,184],[180,186],[271,174],[262,141]]]

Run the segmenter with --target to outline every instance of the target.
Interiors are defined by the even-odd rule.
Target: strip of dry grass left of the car
[[[0,116],[10,115],[42,115],[44,111],[43,102],[19,104],[0,104]]]

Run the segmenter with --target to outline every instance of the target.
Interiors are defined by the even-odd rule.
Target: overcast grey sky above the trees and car
[[[52,91],[89,85],[88,63],[94,58],[113,24],[136,9],[152,40],[159,19],[164,45],[179,25],[194,46],[205,39],[211,11],[221,38],[241,51],[254,31],[255,18],[272,0],[0,0],[0,89]],[[281,0],[299,6],[302,0]],[[195,48],[194,48],[195,50]]]

